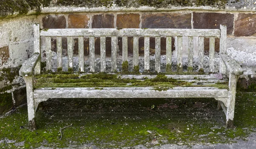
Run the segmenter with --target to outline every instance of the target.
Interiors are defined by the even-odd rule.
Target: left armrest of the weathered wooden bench
[[[38,62],[39,56],[40,56],[39,53],[34,53],[32,57],[30,57],[23,63],[19,72],[20,76],[33,75],[33,71],[36,63]]]

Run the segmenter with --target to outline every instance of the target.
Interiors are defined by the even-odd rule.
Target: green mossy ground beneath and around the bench
[[[30,149],[96,145],[99,148],[233,143],[256,131],[256,94],[237,94],[235,129],[209,99],[50,99],[36,113],[37,127],[27,127],[27,107],[0,120],[1,148]],[[60,127],[69,126],[62,130]],[[10,143],[11,142],[11,143]]]

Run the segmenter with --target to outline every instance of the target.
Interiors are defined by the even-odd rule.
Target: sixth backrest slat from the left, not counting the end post
[[[100,37],[100,71],[106,71],[106,37]]]

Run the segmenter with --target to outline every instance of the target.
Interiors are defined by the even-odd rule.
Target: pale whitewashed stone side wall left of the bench
[[[26,103],[26,86],[18,72],[33,53],[36,22],[33,15],[0,20],[0,114]]]

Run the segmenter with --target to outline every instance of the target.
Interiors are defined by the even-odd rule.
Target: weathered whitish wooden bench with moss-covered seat
[[[20,75],[26,82],[29,128],[35,129],[35,111],[38,104],[49,98],[198,98],[212,97],[218,100],[226,115],[227,126],[233,126],[236,83],[243,70],[239,64],[225,54],[226,26],[220,29],[45,29],[34,25],[34,54],[23,63]],[[65,77],[53,73],[41,74],[41,37],[45,37],[46,70],[52,68],[51,38],[56,37],[57,69],[62,70],[62,37],[67,37],[67,65],[73,75],[73,84],[67,84]],[[73,38],[78,37],[79,73],[73,72]],[[89,38],[90,53],[84,58],[84,38]],[[100,37],[100,70],[95,69],[95,37]],[[106,72],[106,37],[111,37],[111,58]],[[118,37],[122,37],[122,71],[118,72]],[[128,37],[133,37],[133,57],[128,57]],[[144,37],[144,56],[139,56],[139,37]],[[155,38],[155,54],[150,56],[150,37]],[[160,37],[166,37],[166,62],[161,63]],[[176,55],[172,57],[172,37],[176,38]],[[188,39],[188,49],[183,47],[183,37]],[[198,62],[195,63],[193,40],[198,37]],[[204,55],[204,38],[209,38],[209,56]],[[215,38],[220,38],[219,53],[215,52]],[[43,47],[43,46],[42,46]],[[184,67],[183,49],[187,50]],[[217,55],[217,56],[216,56]],[[75,57],[75,56],[74,56]],[[119,56],[120,57],[120,56]],[[166,58],[165,58],[166,57]],[[205,57],[208,57],[207,61]],[[85,60],[89,61],[89,72],[85,72]],[[139,61],[144,60],[144,74],[139,72]],[[150,73],[151,59],[155,62],[155,72]],[[128,72],[128,61],[134,72]],[[206,63],[207,61],[207,63]],[[218,61],[218,63],[215,63]],[[172,68],[177,66],[177,68]],[[195,67],[193,65],[198,65]],[[207,66],[206,66],[207,64]],[[218,66],[219,65],[219,66]],[[204,68],[208,73],[203,73]],[[163,70],[165,68],[165,70]],[[110,70],[111,69],[111,70]],[[124,70],[125,69],[125,70]],[[55,70],[56,71],[56,70]],[[125,72],[126,74],[123,74]],[[165,72],[165,73],[159,73]],[[90,73],[90,74],[89,74]],[[116,74],[114,74],[116,73]],[[34,75],[35,74],[35,75]],[[43,77],[41,77],[43,76]],[[104,77],[108,76],[108,77]],[[225,78],[226,76],[226,78]],[[48,80],[47,78],[49,77]],[[71,76],[72,77],[72,76]],[[104,78],[103,78],[104,77]],[[41,79],[41,80],[40,80]],[[62,80],[61,80],[62,79]],[[72,79],[72,78],[70,78]],[[80,79],[80,80],[79,80]],[[99,80],[102,81],[99,83]],[[38,82],[40,82],[38,85]],[[64,82],[63,82],[64,81]],[[65,82],[66,81],[66,82]],[[70,80],[70,82],[72,82]],[[218,86],[219,85],[219,86]],[[71,86],[71,87],[70,87]],[[226,86],[226,87],[225,87]]]

